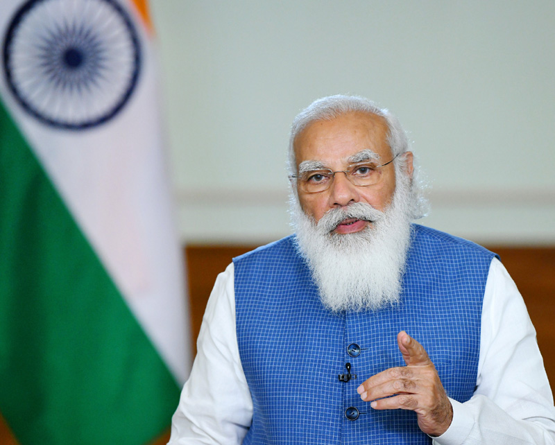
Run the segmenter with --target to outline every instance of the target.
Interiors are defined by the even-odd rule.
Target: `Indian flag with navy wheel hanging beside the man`
[[[140,0],[1,0],[0,443],[162,443],[189,372]]]

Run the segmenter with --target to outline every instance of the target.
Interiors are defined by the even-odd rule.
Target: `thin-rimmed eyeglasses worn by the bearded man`
[[[379,182],[382,177],[382,167],[391,164],[399,153],[382,165],[376,165],[375,162],[357,162],[352,164],[347,170],[332,171],[331,168],[318,168],[316,170],[308,170],[300,173],[300,175],[291,175],[289,178],[297,178],[299,188],[305,193],[318,193],[330,188],[336,173],[345,173],[345,177],[355,186],[371,186]]]

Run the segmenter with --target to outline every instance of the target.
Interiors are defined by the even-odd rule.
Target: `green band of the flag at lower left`
[[[144,444],[180,392],[1,103],[0,382],[22,445]]]

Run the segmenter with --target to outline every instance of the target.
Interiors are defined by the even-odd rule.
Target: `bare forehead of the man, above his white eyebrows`
[[[323,162],[327,166],[345,164],[361,150],[372,150],[388,159],[388,126],[382,116],[350,112],[331,121],[314,121],[300,132],[294,142],[296,164]]]

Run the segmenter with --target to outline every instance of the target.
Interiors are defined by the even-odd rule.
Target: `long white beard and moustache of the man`
[[[399,302],[411,238],[410,196],[409,178],[398,177],[385,211],[357,202],[327,211],[318,224],[291,197],[297,248],[331,311],[376,310]],[[332,232],[345,218],[372,221],[372,226],[354,234]]]

